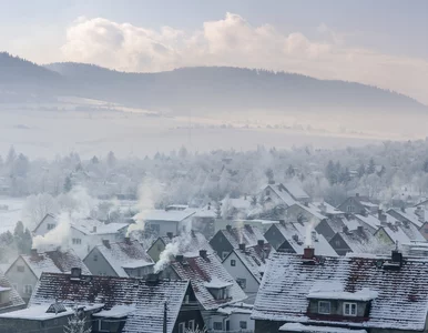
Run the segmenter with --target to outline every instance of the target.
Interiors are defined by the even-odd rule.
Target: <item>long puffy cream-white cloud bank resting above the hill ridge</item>
[[[298,72],[391,89],[428,104],[428,61],[346,46],[322,23],[319,40],[271,24],[253,27],[226,13],[195,31],[159,31],[103,18],[79,18],[67,31],[61,51],[68,61],[124,71],[163,71],[187,65],[233,65]]]

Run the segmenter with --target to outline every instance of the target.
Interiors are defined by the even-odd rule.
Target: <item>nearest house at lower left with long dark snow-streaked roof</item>
[[[160,280],[156,274],[146,279],[95,276],[83,275],[79,269],[71,274],[43,273],[28,310],[55,302],[65,309],[98,306],[99,312],[91,314],[94,333],[183,333],[204,325],[188,280]],[[32,317],[39,327],[42,321],[43,316]],[[29,324],[20,321],[20,332],[29,332]],[[49,332],[62,333],[63,326]]]

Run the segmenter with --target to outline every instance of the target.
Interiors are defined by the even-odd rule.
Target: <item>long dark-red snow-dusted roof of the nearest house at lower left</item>
[[[172,332],[188,281],[160,280],[150,284],[143,279],[113,276],[82,276],[71,280],[69,274],[43,273],[30,300],[30,307],[52,303],[104,304],[105,312],[116,314],[118,305],[134,306],[128,315],[124,333],[159,333],[163,327],[164,303],[167,303],[167,332]]]

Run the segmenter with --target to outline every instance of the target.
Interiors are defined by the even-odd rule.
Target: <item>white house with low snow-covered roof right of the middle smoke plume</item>
[[[180,234],[185,225],[192,225],[192,215],[195,210],[186,205],[171,205],[164,210],[145,210],[137,213],[133,220],[144,221],[144,233],[146,235],[165,235],[169,232]]]

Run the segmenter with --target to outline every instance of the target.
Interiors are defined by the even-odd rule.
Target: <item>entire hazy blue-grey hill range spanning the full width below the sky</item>
[[[45,67],[0,53],[0,102],[75,95],[175,113],[318,108],[424,111],[406,95],[359,83],[230,67],[126,73],[84,63]]]

